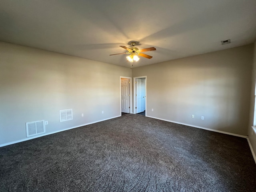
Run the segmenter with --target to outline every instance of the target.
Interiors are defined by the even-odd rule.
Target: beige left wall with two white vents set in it
[[[0,42],[0,145],[26,139],[25,122],[48,120],[51,133],[120,116],[120,76],[131,75],[130,68]],[[73,120],[60,122],[59,110],[70,108]]]

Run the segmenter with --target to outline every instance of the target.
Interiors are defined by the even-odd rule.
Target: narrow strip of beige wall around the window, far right
[[[250,103],[250,122],[248,127],[248,139],[250,141],[252,150],[254,151],[254,160],[256,162],[256,128],[252,128],[254,125],[254,104],[255,104],[255,86],[256,86],[256,42],[254,43],[254,60],[252,70],[252,92],[251,92],[251,103]],[[254,125],[255,126],[255,125]]]

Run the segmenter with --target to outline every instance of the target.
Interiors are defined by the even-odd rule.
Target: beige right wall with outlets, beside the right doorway
[[[252,57],[251,44],[133,68],[132,76],[147,76],[147,116],[246,136]]]

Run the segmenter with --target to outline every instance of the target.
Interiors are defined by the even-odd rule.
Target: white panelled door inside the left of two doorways
[[[130,113],[129,79],[121,79],[121,112]]]

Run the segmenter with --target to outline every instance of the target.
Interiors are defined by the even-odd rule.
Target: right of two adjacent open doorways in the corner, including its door
[[[146,116],[146,76],[134,77],[134,113]]]

